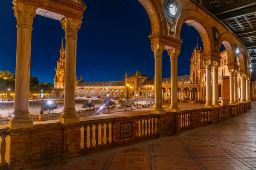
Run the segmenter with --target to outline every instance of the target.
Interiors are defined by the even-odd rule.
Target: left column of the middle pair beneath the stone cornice
[[[162,54],[165,50],[165,45],[156,44],[152,45],[151,47],[152,51],[154,51],[155,58],[155,104],[154,109],[151,110],[151,113],[162,114],[166,113],[162,104]]]

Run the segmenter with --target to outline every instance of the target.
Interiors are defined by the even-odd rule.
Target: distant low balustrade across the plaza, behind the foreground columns
[[[98,111],[79,111],[76,112],[76,115],[78,117],[84,117],[84,116],[93,116],[93,115],[99,115],[99,114],[106,114],[106,113],[115,113],[120,111],[129,111],[134,109],[140,109],[140,108],[147,108],[150,106],[153,106],[154,103],[148,104],[148,105],[140,105],[140,106],[134,106],[134,107],[127,107],[127,108],[110,108],[108,111],[106,109],[99,109]],[[46,120],[54,120],[58,119],[62,113],[52,113],[52,114],[39,114],[39,115],[32,115],[29,116],[33,122],[35,121],[46,121]],[[8,124],[12,117],[2,117],[0,118],[0,124]]]

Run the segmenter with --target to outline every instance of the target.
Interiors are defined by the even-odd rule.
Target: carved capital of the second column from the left
[[[81,20],[75,20],[70,17],[64,17],[61,20],[61,27],[65,31],[66,38],[77,39],[77,31],[81,27]]]

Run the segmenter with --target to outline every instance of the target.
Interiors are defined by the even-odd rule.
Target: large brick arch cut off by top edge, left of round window
[[[148,13],[152,35],[167,34],[166,15],[161,0],[138,0]]]

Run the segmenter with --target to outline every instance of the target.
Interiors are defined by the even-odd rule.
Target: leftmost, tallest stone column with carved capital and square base
[[[13,4],[14,15],[17,19],[17,48],[14,117],[9,122],[9,127],[11,129],[20,129],[33,127],[33,122],[28,115],[31,34],[36,7],[16,0],[14,0]]]

